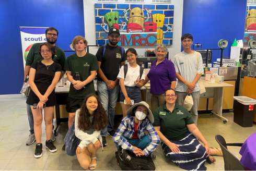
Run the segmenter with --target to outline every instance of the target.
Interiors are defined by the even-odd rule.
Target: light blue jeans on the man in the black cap
[[[97,91],[100,102],[109,118],[108,126],[101,130],[100,135],[107,137],[107,131],[114,128],[115,105],[118,101],[119,84],[113,89],[109,89],[104,81],[97,81]]]

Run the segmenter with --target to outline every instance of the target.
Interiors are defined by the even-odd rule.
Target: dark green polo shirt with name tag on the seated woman
[[[188,132],[187,125],[194,124],[194,121],[184,107],[175,104],[173,111],[170,112],[166,104],[161,105],[154,112],[153,127],[159,127],[161,133],[170,141],[179,141]]]

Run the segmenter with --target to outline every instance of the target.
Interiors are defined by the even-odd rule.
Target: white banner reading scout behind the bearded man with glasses
[[[21,46],[24,68],[27,55],[34,43],[46,42],[45,30],[48,27],[20,27]]]

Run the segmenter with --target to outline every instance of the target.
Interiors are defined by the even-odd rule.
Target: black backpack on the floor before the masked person
[[[121,147],[115,152],[115,158],[122,170],[155,170],[156,166],[148,155],[136,156],[129,150],[122,149]]]

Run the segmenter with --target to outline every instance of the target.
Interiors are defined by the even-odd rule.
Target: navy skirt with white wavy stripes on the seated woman
[[[207,169],[204,166],[207,156],[206,150],[192,133],[188,132],[182,140],[171,142],[179,145],[180,152],[178,154],[173,153],[164,142],[161,142],[162,150],[169,160],[186,170]]]

